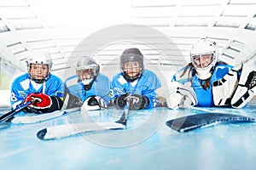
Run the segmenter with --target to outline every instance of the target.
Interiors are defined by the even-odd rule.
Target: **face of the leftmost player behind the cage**
[[[35,79],[45,79],[49,74],[49,65],[31,64],[29,74]]]

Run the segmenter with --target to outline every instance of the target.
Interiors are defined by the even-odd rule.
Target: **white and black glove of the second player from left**
[[[84,104],[81,107],[81,110],[85,111],[97,111],[101,110],[101,108],[107,108],[108,106],[105,104],[104,100],[99,96],[90,96],[85,99]]]

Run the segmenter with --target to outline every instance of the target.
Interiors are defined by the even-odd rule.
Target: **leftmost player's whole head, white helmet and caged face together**
[[[26,60],[26,66],[31,80],[37,83],[43,83],[49,79],[52,59],[49,54],[32,54]],[[47,69],[45,66],[47,66]]]

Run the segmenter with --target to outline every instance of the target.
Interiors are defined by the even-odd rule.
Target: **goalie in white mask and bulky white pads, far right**
[[[190,105],[241,108],[253,98],[255,71],[249,71],[247,66],[241,64],[233,67],[218,61],[215,42],[206,38],[195,42],[190,51],[190,60],[172,77],[166,99],[169,108]],[[244,85],[245,82],[251,85]]]

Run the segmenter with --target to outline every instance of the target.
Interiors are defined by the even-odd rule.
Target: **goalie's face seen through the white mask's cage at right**
[[[205,68],[212,62],[212,54],[194,55],[193,60],[198,68]]]

